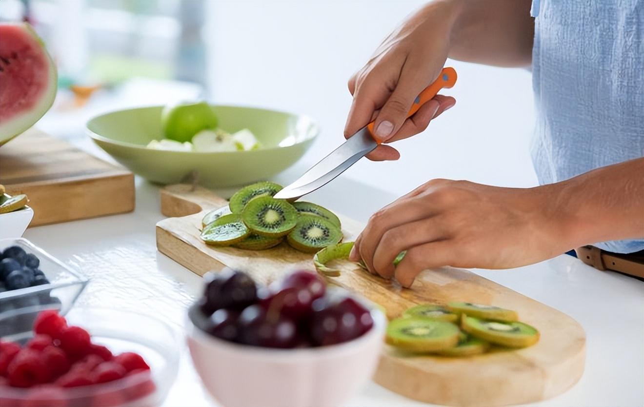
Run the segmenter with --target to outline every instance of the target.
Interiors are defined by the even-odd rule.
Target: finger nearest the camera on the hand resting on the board
[[[408,249],[403,261],[395,268],[395,278],[403,287],[411,287],[422,271],[454,263],[454,243],[451,240],[432,241]]]

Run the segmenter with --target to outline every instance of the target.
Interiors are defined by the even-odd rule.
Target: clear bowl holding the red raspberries
[[[43,307],[46,308],[46,307]],[[26,312],[15,310],[14,312]],[[37,314],[39,309],[30,310]],[[0,406],[160,406],[176,379],[180,338],[175,329],[159,319],[108,308],[74,307],[66,315],[69,325],[82,327],[93,343],[113,354],[137,352],[149,364],[149,372],[123,379],[75,388],[13,388],[0,385]],[[6,321],[0,317],[0,325]],[[23,343],[32,332],[5,337]]]

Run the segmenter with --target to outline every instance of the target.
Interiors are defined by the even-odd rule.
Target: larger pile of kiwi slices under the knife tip
[[[237,191],[228,207],[207,213],[201,238],[214,246],[264,250],[287,241],[301,252],[315,253],[342,240],[340,220],[310,202],[273,198],[282,187],[258,182]]]

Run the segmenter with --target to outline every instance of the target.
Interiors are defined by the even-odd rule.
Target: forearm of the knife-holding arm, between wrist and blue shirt
[[[531,64],[535,23],[530,0],[441,0],[439,4],[454,16],[450,58],[508,67]]]

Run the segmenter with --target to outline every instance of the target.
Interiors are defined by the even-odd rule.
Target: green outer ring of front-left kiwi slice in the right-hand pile
[[[440,329],[444,331],[444,335],[442,337],[414,338],[405,337],[402,334],[397,335],[395,332],[391,332],[396,328],[403,328],[403,325],[413,325],[414,323],[420,326]],[[396,348],[406,350],[408,352],[433,353],[457,346],[459,343],[459,336],[459,327],[453,323],[431,319],[399,318],[393,319],[393,321],[389,323],[385,341],[389,345],[393,345]]]

